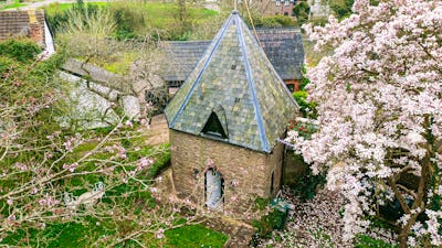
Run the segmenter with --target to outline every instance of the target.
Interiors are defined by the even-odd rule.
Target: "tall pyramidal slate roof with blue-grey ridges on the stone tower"
[[[170,129],[203,137],[202,130],[214,112],[227,134],[224,142],[271,152],[297,109],[234,11],[165,112]]]

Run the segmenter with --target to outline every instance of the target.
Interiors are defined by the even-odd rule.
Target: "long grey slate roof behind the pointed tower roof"
[[[301,79],[304,46],[298,29],[257,29],[257,36],[273,67],[283,79]],[[186,80],[211,41],[164,42],[169,58],[161,76],[165,80]]]

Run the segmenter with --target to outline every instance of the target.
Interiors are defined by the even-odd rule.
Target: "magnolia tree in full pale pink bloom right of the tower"
[[[441,246],[442,2],[357,0],[352,12],[306,26],[335,52],[308,74],[318,131],[288,139],[346,196],[346,239],[393,203],[401,247]]]

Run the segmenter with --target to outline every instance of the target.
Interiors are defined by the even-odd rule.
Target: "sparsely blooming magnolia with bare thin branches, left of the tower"
[[[193,223],[179,215],[187,202],[156,203],[154,180],[168,147],[149,144],[147,120],[61,128],[54,118],[66,115],[60,54],[41,62],[31,42],[7,45],[14,53],[0,46],[0,246],[49,246],[45,229],[73,222],[88,228],[93,219],[105,230],[85,240],[91,247],[143,244]]]

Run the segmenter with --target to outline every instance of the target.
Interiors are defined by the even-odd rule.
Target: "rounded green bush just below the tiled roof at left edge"
[[[0,43],[0,56],[10,57],[19,62],[30,62],[41,53],[39,45],[28,39],[9,39]]]

